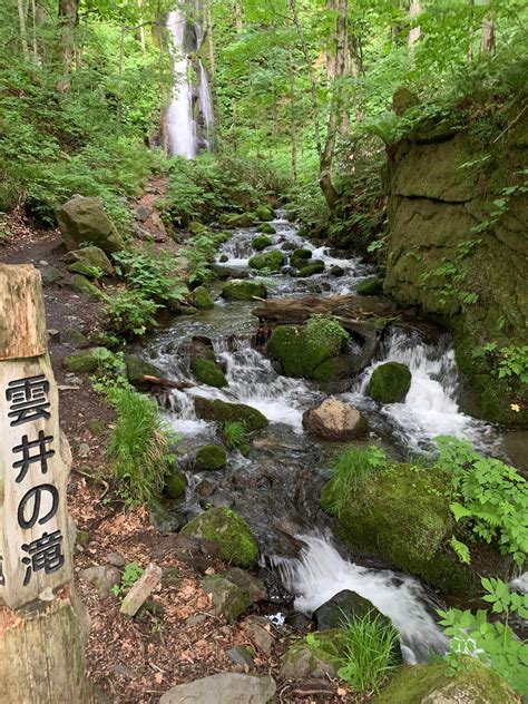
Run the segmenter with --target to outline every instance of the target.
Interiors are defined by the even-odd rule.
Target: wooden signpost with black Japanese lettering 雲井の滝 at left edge
[[[88,617],[71,584],[70,467],[40,274],[0,265],[0,698],[9,704],[94,701]]]

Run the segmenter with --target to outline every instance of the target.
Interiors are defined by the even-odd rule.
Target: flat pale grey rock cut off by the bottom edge
[[[270,675],[222,673],[179,684],[164,694],[159,704],[266,704],[275,692],[276,685]]]

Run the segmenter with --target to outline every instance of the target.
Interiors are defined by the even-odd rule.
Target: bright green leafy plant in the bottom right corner
[[[477,657],[495,669],[519,694],[528,695],[528,643],[516,637],[509,625],[510,617],[518,614],[528,618],[528,594],[510,591],[500,579],[482,579],[486,590],[483,600],[491,604],[493,614],[501,614],[502,620],[489,620],[488,612],[450,608],[439,610],[440,624],[449,636],[449,653],[444,656],[447,674],[454,676],[465,666],[465,656]]]

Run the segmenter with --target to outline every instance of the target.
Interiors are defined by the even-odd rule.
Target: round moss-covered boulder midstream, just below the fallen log
[[[266,352],[281,362],[286,377],[313,379],[315,370],[340,353],[334,338],[310,335],[301,325],[278,325],[272,333]]]

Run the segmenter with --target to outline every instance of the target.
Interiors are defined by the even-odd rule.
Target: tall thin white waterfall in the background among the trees
[[[199,1],[193,4],[195,17],[199,17]],[[196,56],[204,32],[201,20],[188,18],[183,3],[168,13],[167,28],[173,38],[174,61],[174,91],[167,111],[168,149],[193,159],[202,149],[212,149],[214,125],[207,71]],[[197,84],[190,78],[193,72]]]

